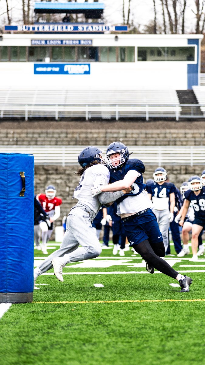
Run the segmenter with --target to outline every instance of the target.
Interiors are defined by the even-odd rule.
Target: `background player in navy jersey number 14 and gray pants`
[[[154,183],[151,185],[148,184],[146,190],[148,197],[154,204],[153,212],[156,215],[159,229],[162,232],[165,252],[167,254],[169,253],[169,224],[174,219],[175,186],[172,183],[166,182],[166,176],[166,170],[163,167],[158,167],[153,174]]]

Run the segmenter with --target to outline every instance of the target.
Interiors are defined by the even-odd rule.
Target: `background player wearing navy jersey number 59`
[[[185,216],[192,204],[194,209],[194,221],[192,226],[192,254],[190,261],[197,261],[198,236],[205,227],[205,187],[202,186],[202,180],[199,176],[192,176],[189,181],[189,190],[185,191],[185,200],[181,211],[180,226],[183,226]]]

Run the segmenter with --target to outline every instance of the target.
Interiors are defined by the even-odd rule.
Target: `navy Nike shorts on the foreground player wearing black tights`
[[[130,246],[138,245],[145,239],[148,239],[150,244],[163,241],[156,216],[151,209],[143,214],[134,215],[133,218],[124,221],[123,225]]]

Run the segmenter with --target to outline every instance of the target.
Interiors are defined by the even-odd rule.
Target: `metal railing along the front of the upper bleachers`
[[[202,112],[204,110],[204,112]],[[205,118],[205,104],[0,104],[0,118]]]

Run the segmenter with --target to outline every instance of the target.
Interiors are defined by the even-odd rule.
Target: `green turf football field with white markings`
[[[49,254],[57,247],[50,242]],[[166,259],[193,278],[189,293],[149,274],[131,250],[68,264],[63,283],[53,270],[40,276],[34,302],[12,304],[0,319],[1,364],[205,364],[205,257],[174,253]],[[35,266],[43,256],[35,250]]]

